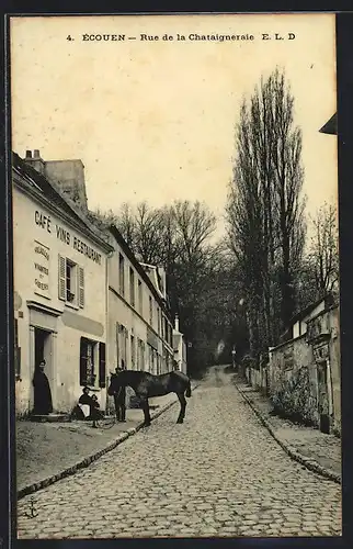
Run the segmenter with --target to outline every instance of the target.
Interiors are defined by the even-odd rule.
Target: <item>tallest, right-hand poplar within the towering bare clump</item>
[[[304,181],[301,130],[294,127],[294,97],[284,74],[276,69],[264,93],[273,102],[270,149],[274,169],[274,220],[280,244],[281,315],[285,327],[295,310],[295,270],[301,260],[305,243],[305,201],[300,197]]]

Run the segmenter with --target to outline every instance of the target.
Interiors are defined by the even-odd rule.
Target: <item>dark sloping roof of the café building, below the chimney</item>
[[[98,243],[103,249],[106,251],[113,249],[94,225],[92,228],[92,222],[89,221],[84,213],[79,211],[66,194],[65,197],[61,194],[58,186],[30,166],[16,153],[12,153],[12,169],[21,177],[21,180],[26,183],[26,187],[32,190],[33,194],[39,192],[41,198],[46,199],[47,202],[64,211],[87,236],[91,237],[92,240]]]

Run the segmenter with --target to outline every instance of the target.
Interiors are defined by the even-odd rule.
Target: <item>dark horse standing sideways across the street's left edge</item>
[[[111,384],[107,394],[114,395],[121,386],[130,386],[140,401],[144,411],[144,427],[151,424],[149,415],[148,399],[151,396],[163,396],[175,393],[180,402],[180,413],[176,423],[183,423],[185,417],[186,399],[191,396],[191,384],[187,376],[180,371],[172,371],[155,376],[143,370],[123,370],[118,373],[111,373]]]

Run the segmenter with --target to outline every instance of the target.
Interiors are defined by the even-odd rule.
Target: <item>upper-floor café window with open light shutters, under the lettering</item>
[[[59,256],[59,299],[83,309],[84,271],[70,259]]]

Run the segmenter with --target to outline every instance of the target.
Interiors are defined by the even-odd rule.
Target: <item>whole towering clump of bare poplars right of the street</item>
[[[236,130],[228,242],[242,272],[254,358],[277,340],[295,310],[305,223],[301,133],[293,113],[294,98],[276,69],[243,101]]]

